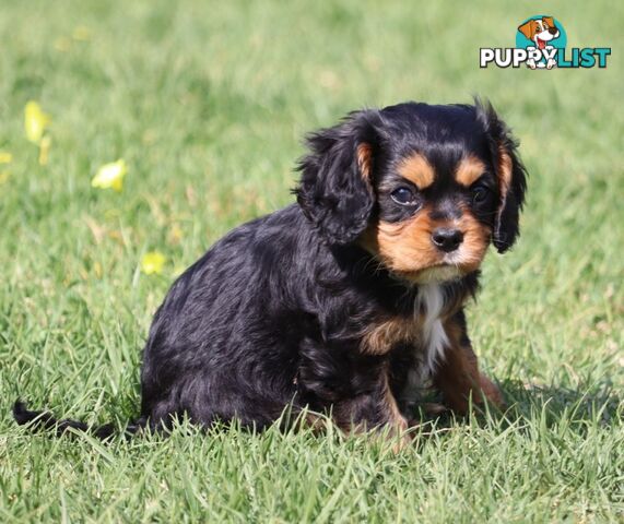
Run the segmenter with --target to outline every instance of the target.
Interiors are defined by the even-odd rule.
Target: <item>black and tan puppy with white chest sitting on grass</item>
[[[130,431],[175,416],[262,428],[289,405],[401,429],[427,380],[458,412],[503,402],[463,305],[488,245],[518,236],[525,169],[505,124],[479,103],[408,103],[352,112],[307,144],[297,203],[234,229],[172,286]],[[14,415],[87,429],[22,403]]]

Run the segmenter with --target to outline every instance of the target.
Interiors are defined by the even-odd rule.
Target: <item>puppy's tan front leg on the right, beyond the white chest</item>
[[[482,404],[485,397],[495,406],[503,407],[505,402],[501,390],[479,371],[463,311],[445,322],[445,331],[449,347],[434,372],[434,383],[443,392],[449,407],[467,413],[471,397],[476,404]]]

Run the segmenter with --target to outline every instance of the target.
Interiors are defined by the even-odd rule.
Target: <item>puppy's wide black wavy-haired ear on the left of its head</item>
[[[299,160],[302,178],[294,192],[304,215],[329,243],[353,242],[368,225],[379,122],[376,110],[356,111],[307,138],[310,152]]]

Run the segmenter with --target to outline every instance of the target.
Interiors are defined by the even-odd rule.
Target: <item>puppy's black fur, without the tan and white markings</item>
[[[373,151],[369,181],[356,158],[362,143]],[[172,286],[150,329],[141,418],[131,431],[168,427],[175,416],[202,426],[238,419],[263,428],[289,405],[295,412],[331,410],[341,426],[387,421],[382,370],[395,369],[396,393],[413,350],[398,344],[386,355],[365,355],[360,344],[380,318],[419,314],[419,287],[393,276],[357,239],[380,216],[405,219],[379,187],[396,177],[392,166],[410,152],[427,154],[438,174],[423,198],[472,205],[469,193],[452,186],[452,166],[471,152],[494,171],[497,147],[505,147],[514,160],[514,181],[501,221],[494,224],[494,199],[474,213],[492,226],[499,251],[518,235],[523,168],[490,106],[410,103],[358,111],[313,134],[308,146],[295,190],[298,205],[237,227]],[[445,283],[444,293],[450,303],[476,287],[474,272]],[[38,420],[59,432],[86,429],[21,403],[14,416],[19,424]],[[107,437],[110,428],[96,434]]]

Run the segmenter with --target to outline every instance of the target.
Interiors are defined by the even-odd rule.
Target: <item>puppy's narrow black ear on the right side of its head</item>
[[[527,190],[527,171],[518,156],[518,142],[490,103],[475,99],[478,118],[485,127],[498,179],[498,209],[492,239],[499,253],[507,251],[520,234],[520,211]]]

